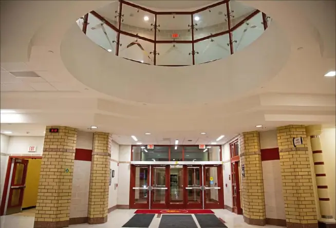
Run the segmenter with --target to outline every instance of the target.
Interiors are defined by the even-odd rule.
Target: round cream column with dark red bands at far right
[[[335,219],[332,217],[328,181],[324,168],[324,158],[320,139],[322,128],[321,125],[310,125],[306,127],[306,130],[307,136],[310,138],[311,151],[314,162],[315,180],[317,185],[317,189],[314,189],[314,191],[318,192],[319,197],[319,227],[336,227]]]

